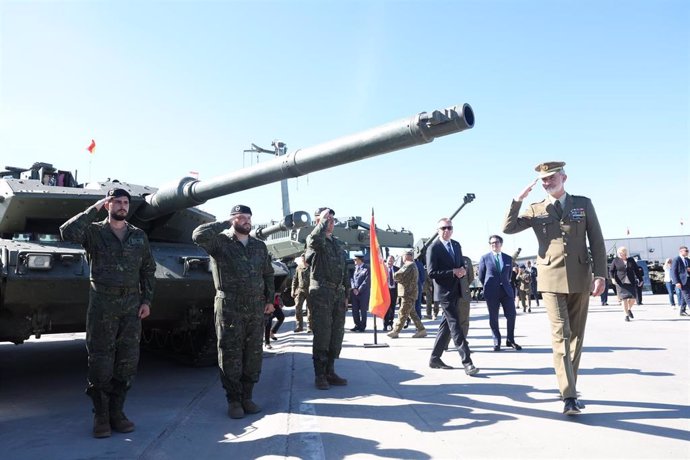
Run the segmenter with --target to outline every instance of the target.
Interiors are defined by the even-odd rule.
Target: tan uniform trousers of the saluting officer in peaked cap
[[[563,398],[577,398],[577,371],[585,336],[589,293],[542,292],[551,323],[553,366]]]

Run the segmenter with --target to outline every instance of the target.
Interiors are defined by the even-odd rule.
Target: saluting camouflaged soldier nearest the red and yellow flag
[[[335,373],[335,360],[340,356],[345,335],[348,272],[345,246],[333,236],[334,215],[332,209],[319,208],[317,225],[307,237],[306,258],[311,268],[309,298],[314,320],[312,359],[314,383],[319,390],[347,385],[347,380]]]

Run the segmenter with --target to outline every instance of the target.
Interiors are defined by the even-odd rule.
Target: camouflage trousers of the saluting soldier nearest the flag
[[[340,356],[345,335],[345,296],[336,289],[319,286],[309,289],[312,307],[312,359],[314,374],[326,375]]]

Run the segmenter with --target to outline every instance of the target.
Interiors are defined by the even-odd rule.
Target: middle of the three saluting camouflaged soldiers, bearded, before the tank
[[[264,314],[273,313],[273,266],[264,242],[249,236],[251,229],[251,209],[237,205],[229,220],[192,233],[211,256],[218,366],[231,418],[261,411],[252,393],[261,374]]]

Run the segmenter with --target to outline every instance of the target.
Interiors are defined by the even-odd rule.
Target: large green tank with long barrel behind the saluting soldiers
[[[59,227],[118,187],[132,196],[127,220],[147,233],[157,263],[156,293],[151,316],[143,322],[143,343],[175,350],[195,364],[203,356],[215,356],[209,257],[192,243],[191,235],[197,226],[216,218],[197,206],[426,144],[473,126],[468,104],[422,112],[208,181],[184,177],[161,187],[118,180],[80,184],[71,171],[49,163],[6,167],[0,172],[0,341],[19,344],[32,335],[84,331],[89,267],[81,246],[60,240]],[[299,228],[307,224],[305,215],[286,216],[279,225],[257,229],[257,236],[265,239]],[[99,218],[104,217],[101,211]],[[281,283],[284,273],[278,274],[276,283]]]

